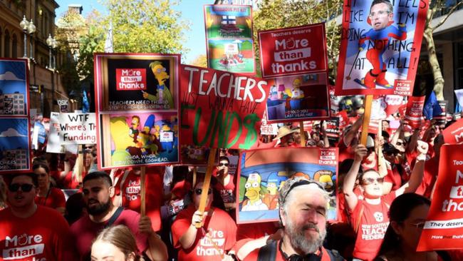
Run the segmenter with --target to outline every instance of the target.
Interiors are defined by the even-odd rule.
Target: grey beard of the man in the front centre
[[[309,228],[315,229],[318,232],[318,237],[307,237],[306,230]],[[301,227],[296,227],[292,222],[288,222],[285,230],[288,230],[287,232],[293,249],[301,250],[304,255],[316,252],[323,244],[323,240],[326,236],[326,230],[320,231],[318,227],[311,222]]]

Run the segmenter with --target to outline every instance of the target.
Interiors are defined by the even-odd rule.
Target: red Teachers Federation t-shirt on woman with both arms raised
[[[371,205],[365,200],[359,199],[355,209],[350,211],[350,225],[353,226],[354,230],[360,219],[353,251],[355,258],[365,261],[371,261],[375,258],[389,225],[387,212],[394,199],[395,193],[393,192],[381,197],[381,203],[378,205]]]

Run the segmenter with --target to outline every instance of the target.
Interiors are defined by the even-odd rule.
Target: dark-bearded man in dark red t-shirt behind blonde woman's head
[[[132,210],[116,208],[110,199],[114,196],[113,182],[108,174],[95,171],[83,179],[83,200],[88,215],[71,226],[80,260],[90,260],[90,247],[100,230],[110,225],[126,225],[132,231],[140,252],[150,260],[167,260],[167,249],[152,230],[150,218]]]

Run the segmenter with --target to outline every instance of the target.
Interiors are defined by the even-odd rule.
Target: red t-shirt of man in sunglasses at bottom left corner
[[[29,218],[10,208],[0,211],[0,260],[76,260],[68,222],[56,210],[38,205]]]

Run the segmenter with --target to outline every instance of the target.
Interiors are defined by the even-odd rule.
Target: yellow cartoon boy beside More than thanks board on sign
[[[154,101],[157,104],[165,105],[165,108],[167,109],[174,108],[174,99],[172,98],[172,93],[170,93],[170,89],[165,86],[165,81],[170,78],[166,72],[166,68],[162,66],[160,61],[153,61],[150,63],[150,68],[152,73],[155,75],[157,82],[159,83],[156,86],[157,94],[152,95],[142,91],[143,98]]]

